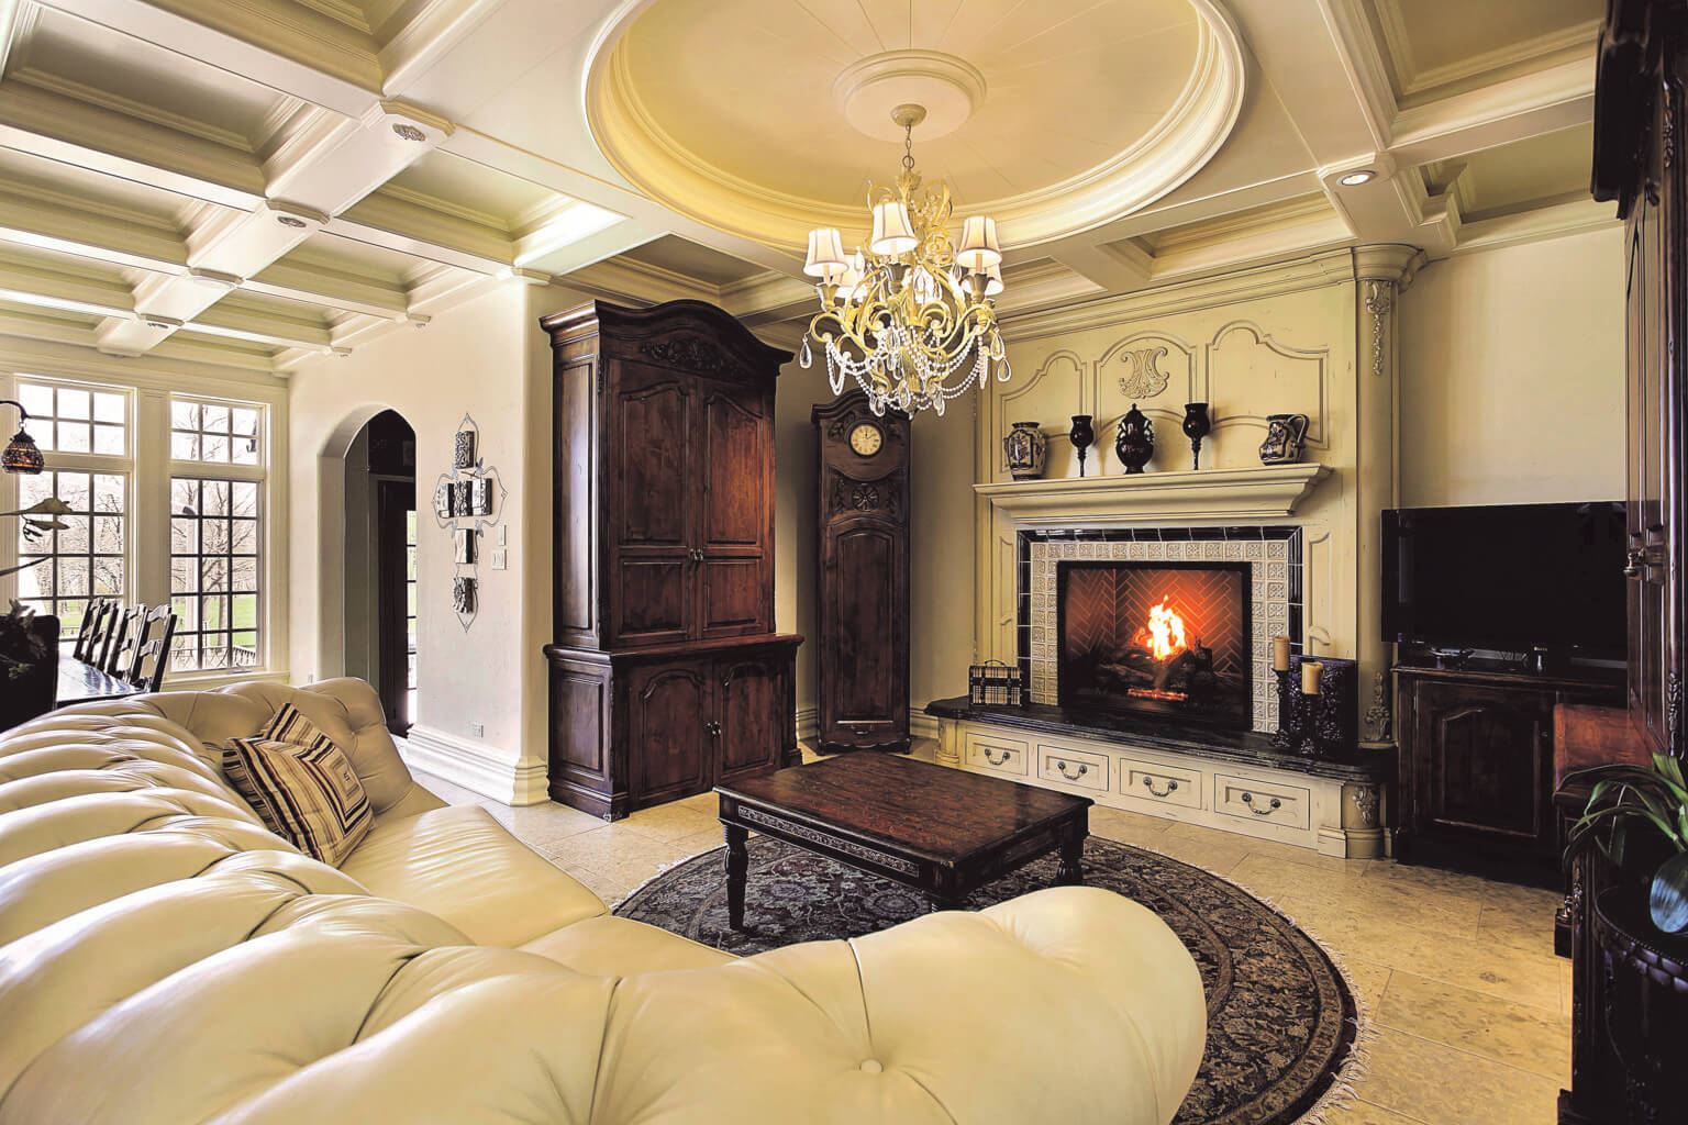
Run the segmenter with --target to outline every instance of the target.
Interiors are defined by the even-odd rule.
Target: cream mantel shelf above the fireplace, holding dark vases
[[[1165,519],[1274,519],[1291,514],[1328,466],[1258,466],[1058,481],[998,481],[972,491],[1028,526],[1119,526]]]

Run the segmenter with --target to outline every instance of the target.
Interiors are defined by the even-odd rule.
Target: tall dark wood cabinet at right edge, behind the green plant
[[[1609,0],[1595,79],[1593,194],[1617,201],[1626,238],[1629,683],[1624,710],[1558,717],[1568,730],[1585,729],[1561,754],[1556,803],[1565,821],[1590,789],[1570,767],[1685,757],[1685,81],[1688,3]],[[1688,1120],[1688,995],[1664,972],[1671,956],[1688,961],[1688,943],[1678,941],[1661,961],[1658,950],[1626,936],[1626,902],[1641,894],[1626,891],[1632,879],[1599,852],[1585,852],[1570,874],[1556,934],[1572,958],[1572,1088],[1560,1095],[1561,1125]]]

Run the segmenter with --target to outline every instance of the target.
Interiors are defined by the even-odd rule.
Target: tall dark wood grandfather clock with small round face
[[[908,751],[908,415],[851,391],[820,445],[819,749]]]

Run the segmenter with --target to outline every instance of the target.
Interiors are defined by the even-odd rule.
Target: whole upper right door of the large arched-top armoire
[[[761,386],[699,379],[695,543],[702,639],[773,629],[773,423]]]

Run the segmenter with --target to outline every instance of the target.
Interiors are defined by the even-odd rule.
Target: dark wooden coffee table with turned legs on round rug
[[[728,923],[744,928],[751,832],[954,907],[1016,867],[1060,850],[1057,884],[1079,884],[1090,798],[918,759],[854,751],[716,786],[728,837]]]

